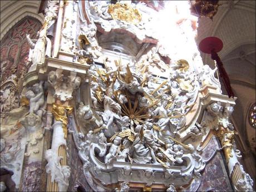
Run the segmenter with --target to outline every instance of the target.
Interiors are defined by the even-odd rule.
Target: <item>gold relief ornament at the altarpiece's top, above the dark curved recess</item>
[[[121,4],[119,2],[110,4],[107,12],[111,15],[112,19],[118,19],[133,24],[137,24],[141,21],[140,12],[130,4]]]

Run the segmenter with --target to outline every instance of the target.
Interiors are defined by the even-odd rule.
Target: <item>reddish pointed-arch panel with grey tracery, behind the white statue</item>
[[[37,19],[26,17],[13,26],[3,37],[0,50],[2,82],[12,74],[21,77],[26,73],[29,52],[26,34],[29,33],[30,37],[35,39],[41,26]]]

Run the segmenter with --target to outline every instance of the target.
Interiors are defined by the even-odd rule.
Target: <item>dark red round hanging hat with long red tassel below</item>
[[[216,61],[216,65],[218,66],[219,75],[225,89],[228,92],[228,96],[234,98],[234,93],[232,91],[232,87],[230,85],[229,77],[223,63],[221,62],[218,52],[223,48],[223,42],[218,37],[206,37],[199,43],[199,50],[203,53],[207,53],[211,55],[211,58]]]

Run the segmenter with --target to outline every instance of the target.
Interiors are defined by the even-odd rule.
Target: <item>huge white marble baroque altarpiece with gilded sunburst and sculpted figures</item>
[[[1,191],[252,190],[235,98],[164,3],[42,1],[3,38]]]

